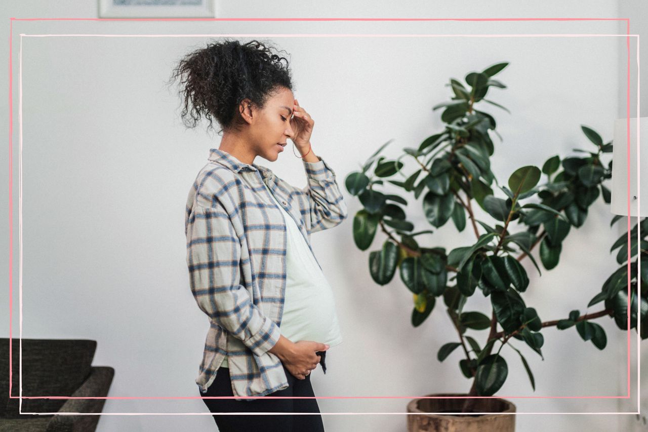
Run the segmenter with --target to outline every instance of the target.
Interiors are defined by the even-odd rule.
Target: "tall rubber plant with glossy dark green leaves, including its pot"
[[[601,205],[601,200],[603,205],[610,204],[610,189],[604,183],[612,177],[612,162],[603,159],[612,152],[612,142],[604,143],[596,130],[583,125],[581,130],[589,147],[574,149],[582,157],[551,156],[538,166],[519,167],[509,174],[506,184],[500,184],[491,171],[495,150],[491,133],[497,134],[496,121],[476,105],[488,102],[509,111],[486,99],[490,88],[506,88],[492,77],[507,65],[502,62],[481,72],[470,72],[465,84],[451,78],[446,84],[453,93],[451,100],[432,108],[443,108],[443,130],[423,139],[418,148],[405,147],[395,159],[380,155],[390,140],[360,165],[360,171],[345,177],[347,191],[362,204],[354,215],[353,239],[360,250],[369,250],[371,278],[385,285],[399,274],[402,285],[413,296],[411,324],[415,327],[434,309],[445,309],[456,328],[456,338],[439,346],[437,359],[445,361],[459,350],[463,358],[457,372],[471,381],[466,393],[429,394],[435,398],[408,403],[408,413],[439,413],[408,415],[410,431],[515,430],[513,403],[496,397],[470,396],[494,396],[507,378],[511,355],[519,357],[516,365],[524,367],[535,390],[535,378],[525,354],[542,357],[544,334],[550,328],[577,331],[599,350],[607,345],[607,335],[595,322],[597,318],[614,319],[623,331],[636,330],[641,320],[641,337],[648,337],[647,219],[632,228],[630,244],[625,233],[612,245],[610,252],[618,249],[616,261],[620,267],[601,285],[601,291],[583,293],[594,294],[589,300],[584,298],[583,305],[600,305],[600,310],[581,313],[574,309],[568,317],[543,321],[536,309],[525,302],[529,278],[520,261],[531,261],[538,275],[542,275],[540,267],[554,269],[559,265],[562,244],[573,229],[583,226],[590,206]],[[415,161],[411,171],[406,172],[402,158]],[[416,206],[422,208],[429,222],[426,229],[414,232],[405,210],[408,200],[403,194],[380,191],[385,182],[412,193],[415,200],[422,196]],[[492,220],[478,220],[476,206]],[[610,226],[620,218],[612,218]],[[419,244],[417,235],[432,233],[430,228],[448,222],[459,232],[473,231],[474,243],[452,248]],[[379,230],[384,241],[378,245],[375,238]],[[533,252],[538,252],[539,259]],[[642,260],[641,274],[638,259]],[[473,295],[490,298],[490,310],[466,310],[466,301]],[[467,335],[467,329],[483,331],[483,339]],[[511,343],[514,341],[519,347]],[[512,350],[503,352],[503,346]]]

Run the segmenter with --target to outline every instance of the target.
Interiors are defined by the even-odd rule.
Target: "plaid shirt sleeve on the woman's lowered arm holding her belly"
[[[281,331],[240,284],[241,245],[226,210],[217,201],[209,208],[195,205],[186,228],[189,281],[198,307],[254,354],[264,354]]]

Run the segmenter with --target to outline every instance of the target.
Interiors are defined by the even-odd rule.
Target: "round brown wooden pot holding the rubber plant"
[[[465,393],[426,394],[426,396],[467,396]],[[515,404],[500,398],[476,398],[473,413],[460,413],[465,398],[413,399],[407,405],[408,432],[514,432]],[[427,414],[439,413],[439,414]]]

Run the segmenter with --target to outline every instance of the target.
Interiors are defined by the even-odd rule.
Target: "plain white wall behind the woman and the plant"
[[[264,3],[238,6],[218,2],[221,18],[520,18],[599,17],[619,14],[617,1],[590,1],[585,9],[566,2],[543,8],[515,1],[498,8],[476,1],[396,3]],[[639,2],[636,2],[639,3]],[[366,6],[373,6],[371,8]],[[379,12],[376,12],[379,11]],[[623,12],[623,10],[622,10]],[[645,21],[645,8],[638,18]],[[0,19],[97,16],[94,1],[23,1],[0,6]],[[631,16],[634,20],[634,17]],[[634,21],[632,21],[634,22]],[[97,22],[14,21],[13,24],[13,320],[19,337],[19,33],[189,34],[557,34],[619,33],[615,21],[428,21],[428,22]],[[638,26],[632,25],[631,32]],[[255,36],[243,36],[249,40]],[[189,290],[183,211],[194,177],[218,136],[203,129],[185,131],[178,99],[163,83],[181,55],[211,38],[25,37],[23,62],[23,294],[22,336],[84,338],[98,341],[95,365],[116,370],[110,396],[198,396],[194,378],[202,355],[207,320]],[[435,104],[447,101],[450,77],[496,62],[511,64],[498,76],[508,86],[494,89],[481,109],[498,120],[503,142],[495,140],[493,171],[505,184],[516,168],[575,147],[588,149],[580,125],[612,139],[613,120],[625,115],[625,40],[622,38],[307,38],[273,37],[290,53],[295,97],[316,120],[313,150],[330,163],[340,185],[345,176],[382,143],[395,139],[386,154],[417,147],[442,126]],[[8,58],[7,44],[0,56]],[[645,44],[644,44],[645,45]],[[634,62],[634,60],[633,60]],[[633,63],[634,64],[634,63]],[[7,78],[7,68],[0,71]],[[6,86],[0,96],[8,100]],[[634,107],[634,104],[631,104]],[[644,104],[648,106],[648,104]],[[479,108],[478,108],[479,109]],[[8,118],[3,104],[0,115]],[[632,114],[636,115],[636,114]],[[8,130],[2,126],[7,136]],[[8,160],[8,149],[3,158]],[[301,161],[290,150],[275,163],[257,159],[295,185],[305,184]],[[413,165],[406,162],[406,172]],[[8,179],[8,163],[1,164]],[[8,196],[7,182],[0,182]],[[394,193],[398,189],[386,189]],[[327,374],[312,376],[318,396],[414,396],[466,392],[469,381],[457,368],[459,351],[444,363],[438,348],[456,334],[439,302],[419,328],[410,324],[411,294],[397,278],[384,287],[369,276],[369,251],[358,250],[351,230],[362,208],[346,191],[350,217],[341,226],[312,237],[313,247],[334,289],[345,341],[327,357]],[[503,194],[498,194],[502,196]],[[417,230],[431,228],[420,202],[408,197]],[[8,207],[2,209],[8,221]],[[478,211],[478,218],[490,221]],[[543,320],[584,311],[588,300],[616,269],[608,253],[618,237],[612,215],[601,202],[586,224],[563,246],[558,269],[537,270],[526,295]],[[424,240],[426,238],[426,240]],[[470,230],[457,235],[451,224],[428,237],[429,246],[451,250],[474,242]],[[382,245],[375,239],[371,250]],[[8,236],[3,237],[5,245]],[[8,245],[7,245],[8,246]],[[8,262],[8,247],[0,248]],[[344,253],[340,253],[344,251]],[[535,251],[537,256],[537,251]],[[0,270],[8,281],[8,266]],[[476,295],[470,309],[487,310]],[[592,311],[598,310],[594,307]],[[8,323],[6,308],[0,319]],[[535,373],[531,390],[524,368],[507,352],[509,378],[502,396],[596,396],[625,394],[626,339],[609,319],[598,320],[608,334],[599,352],[576,331],[547,329],[544,361],[524,350]],[[3,336],[8,335],[8,326]],[[634,341],[635,333],[632,331]],[[485,332],[477,334],[480,340]],[[518,346],[522,346],[518,344]],[[636,350],[636,346],[633,348]],[[636,356],[636,354],[634,354]],[[636,365],[634,365],[636,367]],[[633,381],[636,376],[633,375]],[[636,386],[633,387],[636,392]],[[512,398],[520,412],[634,411],[631,401],[594,398]],[[323,413],[404,413],[408,398],[318,401]],[[634,405],[633,405],[634,403]],[[108,400],[105,413],[206,413],[199,399]],[[402,431],[404,415],[323,416],[329,431]],[[518,431],[610,431],[636,424],[633,416],[540,415],[517,417]],[[538,424],[542,427],[538,429]],[[623,425],[623,426],[621,426]],[[102,416],[98,431],[215,430],[211,416]]]

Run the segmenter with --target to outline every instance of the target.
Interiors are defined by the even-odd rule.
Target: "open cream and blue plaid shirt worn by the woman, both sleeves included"
[[[318,158],[302,160],[303,189],[220,149],[210,149],[209,162],[196,176],[185,234],[191,291],[209,317],[196,378],[201,392],[213,383],[226,356],[235,396],[264,396],[288,387],[279,357],[268,352],[281,335],[286,222],[261,182],[295,219],[312,251],[310,234],[347,217],[335,173]]]

